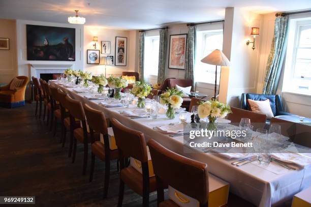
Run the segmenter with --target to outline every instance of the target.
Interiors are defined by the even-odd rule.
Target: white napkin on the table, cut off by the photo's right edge
[[[272,157],[282,162],[296,164],[302,168],[311,166],[311,158],[296,153],[272,153]]]

